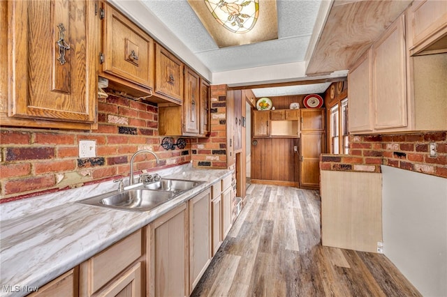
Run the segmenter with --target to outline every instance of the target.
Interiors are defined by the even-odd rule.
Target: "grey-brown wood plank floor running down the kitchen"
[[[421,296],[383,255],[321,246],[318,192],[250,185],[191,296]]]

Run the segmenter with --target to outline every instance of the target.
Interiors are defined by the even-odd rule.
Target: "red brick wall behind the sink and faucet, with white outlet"
[[[166,151],[160,146],[158,107],[109,96],[98,100],[98,130],[0,129],[1,202],[44,192],[98,183],[129,175],[135,151],[149,148],[152,155],[135,158],[134,169],[161,169],[191,161],[191,144]],[[78,158],[80,140],[96,141],[96,158]],[[177,139],[175,139],[177,140]]]

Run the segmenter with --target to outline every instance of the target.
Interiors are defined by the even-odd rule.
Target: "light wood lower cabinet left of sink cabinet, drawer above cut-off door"
[[[145,291],[143,230],[80,264],[80,296],[140,296]],[[122,290],[129,294],[122,295]]]

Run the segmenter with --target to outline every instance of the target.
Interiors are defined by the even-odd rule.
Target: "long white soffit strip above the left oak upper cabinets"
[[[133,20],[152,38],[173,52],[184,63],[202,75],[208,81],[212,80],[212,73],[172,31],[152,13],[142,1],[109,0],[124,15]]]

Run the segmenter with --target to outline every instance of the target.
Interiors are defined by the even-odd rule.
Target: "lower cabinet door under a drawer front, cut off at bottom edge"
[[[103,297],[140,297],[142,295],[142,263],[138,262],[108,287],[98,292]]]

